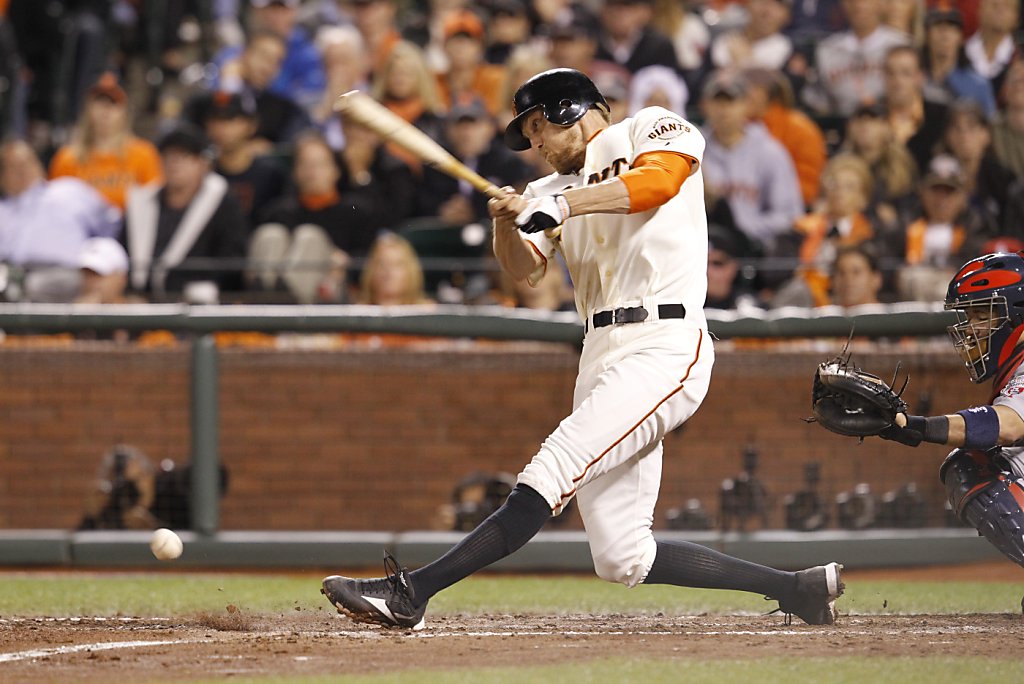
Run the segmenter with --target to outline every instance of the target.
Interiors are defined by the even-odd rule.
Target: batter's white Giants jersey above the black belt
[[[696,126],[650,106],[598,133],[587,145],[579,174],[554,173],[526,186],[523,196],[530,198],[600,182],[628,171],[637,157],[649,152],[680,153],[697,162],[679,194],[660,207],[636,214],[573,216],[560,231],[523,236],[548,259],[556,250],[562,253],[581,318],[642,302],[682,303],[691,324],[707,325],[708,216],[699,164],[703,149]]]

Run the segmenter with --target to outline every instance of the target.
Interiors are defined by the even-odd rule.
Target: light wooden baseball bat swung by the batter
[[[424,164],[432,166],[441,173],[465,180],[493,198],[505,196],[500,187],[457,160],[436,140],[370,95],[351,90],[338,96],[334,102],[334,110],[366,126],[383,139],[409,151]]]

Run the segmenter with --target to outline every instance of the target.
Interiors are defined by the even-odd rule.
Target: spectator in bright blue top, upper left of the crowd
[[[297,23],[301,0],[250,0],[252,30],[269,31],[285,42],[285,58],[268,90],[303,108],[319,102],[327,86],[319,51]]]

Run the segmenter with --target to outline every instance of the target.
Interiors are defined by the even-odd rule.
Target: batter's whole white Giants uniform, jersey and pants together
[[[631,587],[643,582],[656,555],[651,525],[662,441],[700,405],[715,359],[703,315],[703,147],[696,126],[648,108],[598,133],[587,145],[579,175],[553,174],[530,183],[524,194],[553,195],[600,182],[648,152],[678,152],[696,162],[680,191],[659,207],[572,217],[560,228],[523,236],[548,258],[561,252],[582,317],[632,306],[649,312],[642,323],[589,327],[572,413],[518,479],[555,513],[575,497],[598,576]],[[680,303],[684,318],[658,319],[658,304]]]

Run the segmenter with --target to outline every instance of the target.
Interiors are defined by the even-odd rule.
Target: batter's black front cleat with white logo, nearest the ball
[[[338,612],[357,623],[422,630],[427,604],[417,606],[414,602],[416,596],[409,572],[387,552],[384,553],[384,571],[387,576],[377,580],[332,574],[324,579],[321,594],[338,608]]]

